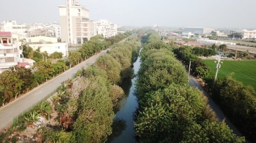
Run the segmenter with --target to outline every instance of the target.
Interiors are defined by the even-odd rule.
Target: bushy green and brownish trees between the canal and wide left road
[[[120,108],[118,101],[124,96],[119,84],[134,76],[131,66],[140,48],[136,36],[112,45],[109,54],[100,56],[92,66],[79,70],[75,79],[58,87],[57,95],[51,99],[51,109],[46,102],[20,117],[33,123],[39,115],[48,118],[52,111],[57,112],[58,125],[39,128],[35,133],[37,142],[104,143],[112,133],[114,113]],[[8,137],[6,134],[3,137]]]

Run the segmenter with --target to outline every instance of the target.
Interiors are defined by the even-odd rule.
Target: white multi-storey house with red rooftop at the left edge
[[[0,32],[0,73],[23,62],[21,42],[13,42],[11,32]]]

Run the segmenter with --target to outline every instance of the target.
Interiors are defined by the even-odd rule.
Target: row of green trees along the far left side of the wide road
[[[49,57],[57,59],[54,63],[49,60],[43,60],[42,54],[38,53],[40,48],[32,50],[31,47],[23,46],[24,57],[34,59],[36,63],[33,69],[11,67],[10,70],[0,74],[0,104],[4,106],[6,103],[15,100],[19,95],[29,92],[34,87],[47,82],[49,79],[58,76],[76,64],[83,62],[85,59],[109,48],[114,43],[120,42],[130,35],[131,32],[118,34],[110,38],[103,38],[101,35],[93,36],[79,50],[70,52],[67,60],[58,59],[62,57],[62,54],[58,52],[49,55]],[[42,53],[44,57],[48,57],[46,52]]]

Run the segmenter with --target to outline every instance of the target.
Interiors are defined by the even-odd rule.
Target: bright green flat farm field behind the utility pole
[[[215,77],[216,63],[212,59],[203,59],[203,61],[210,68],[210,76]],[[217,78],[224,78],[225,76],[234,73],[233,79],[243,82],[244,85],[251,85],[256,90],[256,60],[244,61],[222,61]]]

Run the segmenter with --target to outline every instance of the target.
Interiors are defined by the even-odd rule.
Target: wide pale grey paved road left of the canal
[[[108,49],[107,49],[108,50]],[[65,73],[55,77],[54,79],[48,81],[47,83],[37,87],[36,89],[32,90],[31,92],[23,95],[22,97],[18,98],[16,101],[6,105],[5,107],[0,109],[0,130],[3,130],[6,126],[12,123],[12,118],[16,118],[18,114],[24,113],[29,109],[33,104],[41,101],[46,97],[49,93],[54,91],[58,88],[58,86],[66,81],[69,78],[72,78],[77,70],[81,69],[81,67],[87,67],[87,64],[93,64],[96,59],[106,54],[107,50],[102,51],[101,53],[97,54],[96,56],[87,59],[86,61],[82,62],[81,64],[76,65],[76,67],[67,70]]]

